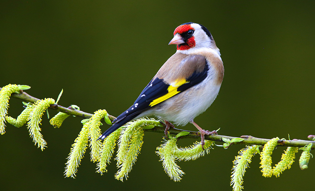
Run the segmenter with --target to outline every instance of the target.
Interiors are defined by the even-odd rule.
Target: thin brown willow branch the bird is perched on
[[[0,88],[1,90],[2,88]],[[18,93],[13,93],[11,94],[11,97],[14,98],[18,98],[22,101],[25,102],[36,102],[37,100],[39,100],[36,97],[33,97],[31,95],[28,95],[26,92],[21,91],[20,94]],[[92,117],[93,114],[91,113],[86,113],[77,109],[74,109],[72,107],[63,107],[60,106],[58,104],[52,104],[49,107],[50,109],[54,109],[57,110],[59,112],[62,113],[66,113],[69,115],[74,115],[77,117],[82,117],[82,118],[90,118]],[[116,119],[116,117],[112,116],[112,115],[108,115],[108,117],[113,120]],[[145,131],[148,132],[156,132],[156,133],[163,133],[164,134],[164,127],[154,127],[152,129],[145,129]],[[169,130],[169,133],[171,135],[177,135],[179,132],[181,131],[187,131],[189,132],[188,135],[186,136],[181,136],[180,138],[192,138],[192,139],[200,139],[200,132],[196,132],[196,131],[188,131],[188,130],[181,130],[181,129],[176,129],[176,128],[172,128]],[[233,142],[233,144],[246,144],[246,145],[264,145],[266,144],[266,142],[270,141],[270,139],[262,139],[262,138],[256,138],[253,136],[241,136],[241,137],[232,137],[232,136],[224,136],[224,135],[209,135],[209,136],[205,136],[205,140],[210,140],[210,141],[217,141],[217,142],[224,142],[222,141],[222,138],[227,138],[232,140],[233,138],[243,138],[244,140],[241,142]],[[309,143],[312,143],[312,149],[315,148],[315,141],[306,141],[306,140],[297,140],[294,139],[292,141],[289,140],[280,140],[278,142],[278,146],[283,146],[283,147],[304,147],[305,145],[308,145]]]

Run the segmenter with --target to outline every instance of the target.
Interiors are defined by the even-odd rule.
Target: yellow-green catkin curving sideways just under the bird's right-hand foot
[[[190,147],[178,148],[178,150],[174,153],[174,156],[178,160],[196,160],[199,157],[204,156],[205,152],[207,152],[207,154],[210,153],[210,149],[208,148],[213,145],[214,141],[205,140],[204,143],[203,148],[206,151],[202,149],[200,142],[195,142]]]

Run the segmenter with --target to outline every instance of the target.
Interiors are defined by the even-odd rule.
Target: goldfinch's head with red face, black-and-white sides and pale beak
[[[177,44],[177,51],[182,53],[204,48],[218,49],[209,30],[193,22],[178,26],[169,44]]]

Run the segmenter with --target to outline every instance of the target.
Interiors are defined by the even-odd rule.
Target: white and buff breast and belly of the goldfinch
[[[214,67],[209,66],[207,77],[194,87],[177,94],[143,114],[154,114],[160,119],[186,125],[213,103],[219,93],[221,84],[216,83]]]

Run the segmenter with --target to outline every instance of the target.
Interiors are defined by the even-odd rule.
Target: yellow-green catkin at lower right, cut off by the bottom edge
[[[244,187],[243,177],[248,168],[248,164],[251,162],[252,157],[257,153],[257,149],[260,145],[246,146],[246,148],[238,151],[238,156],[233,161],[232,175],[231,175],[231,186],[233,191],[241,191]]]

